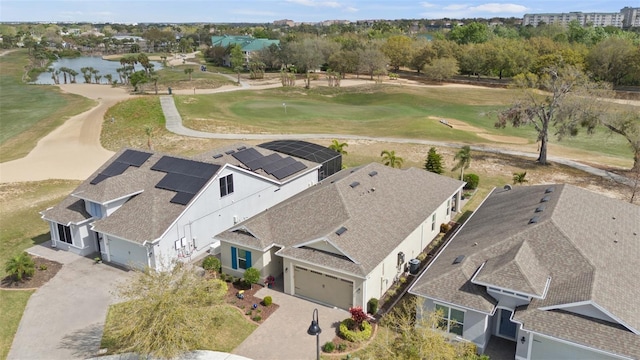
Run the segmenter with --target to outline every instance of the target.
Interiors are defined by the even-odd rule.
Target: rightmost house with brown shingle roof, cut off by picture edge
[[[571,185],[495,189],[409,291],[479,352],[498,338],[515,359],[639,359],[640,207]]]

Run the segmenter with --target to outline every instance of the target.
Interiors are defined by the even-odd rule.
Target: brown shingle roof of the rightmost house
[[[546,297],[516,309],[516,321],[528,330],[637,357],[640,337],[627,328],[539,308],[588,302],[640,329],[634,305],[640,299],[639,219],[640,207],[571,185],[497,189],[410,291],[492,313],[496,300],[471,282],[474,275],[476,283],[537,296],[550,277]],[[453,264],[459,255],[464,259]],[[619,339],[635,345],[617,346]]]

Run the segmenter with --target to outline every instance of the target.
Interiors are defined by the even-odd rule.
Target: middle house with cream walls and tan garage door
[[[366,308],[451,220],[463,186],[417,168],[344,169],[218,234],[223,272],[254,267],[287,294]]]

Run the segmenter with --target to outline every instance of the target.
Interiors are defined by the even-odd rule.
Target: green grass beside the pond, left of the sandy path
[[[26,50],[0,57],[0,161],[25,156],[39,139],[94,102],[55,86],[22,82]]]

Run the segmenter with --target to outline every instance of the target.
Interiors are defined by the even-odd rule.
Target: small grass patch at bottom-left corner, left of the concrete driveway
[[[9,355],[24,308],[33,290],[0,290],[0,360]]]

